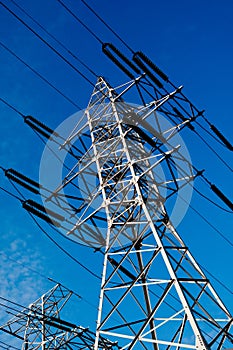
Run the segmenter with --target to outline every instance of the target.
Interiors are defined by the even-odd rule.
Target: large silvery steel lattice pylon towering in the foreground
[[[101,336],[121,349],[229,347],[232,316],[169,215],[167,199],[199,175],[171,141],[179,127],[164,127],[157,114],[181,88],[144,106],[124,103],[136,85],[118,92],[99,78],[63,145],[76,140],[84,151],[49,197],[76,196],[68,234],[104,247],[94,349]]]

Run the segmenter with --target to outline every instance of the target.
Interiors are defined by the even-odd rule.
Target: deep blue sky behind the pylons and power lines
[[[112,62],[101,53],[101,45],[77,21],[68,15],[56,1],[15,0],[33,18],[56,36],[98,75],[103,75],[111,85],[127,81]],[[3,1],[30,26],[48,39],[30,19],[11,2]],[[65,2],[104,41],[112,42],[129,51],[101,24],[80,2]],[[233,45],[232,17],[233,3],[214,1],[166,1],[146,2],[120,0],[89,1],[90,5],[107,21],[116,32],[135,50],[145,52],[165,71],[177,85],[184,85],[185,94],[200,109],[206,110],[209,120],[218,126],[232,141],[232,94],[233,94]],[[88,103],[93,87],[58,58],[19,23],[2,6],[0,11],[0,40],[41,75],[61,90],[81,108]],[[70,62],[76,61],[49,39]],[[95,77],[80,64],[77,67],[95,83]],[[52,128],[77,111],[54,89],[39,79],[33,72],[0,47],[0,91],[1,97],[14,105],[25,115],[33,115]],[[3,103],[0,104],[0,165],[14,168],[38,179],[39,162],[43,144],[22,121],[19,115]],[[189,148],[193,163],[206,169],[206,176],[229,197],[233,198],[231,172],[219,160],[194,139],[189,130],[182,135]],[[216,146],[229,164],[232,155]],[[1,186],[11,189],[3,176]],[[214,194],[206,191],[213,200]],[[99,280],[75,264],[35,226],[29,215],[21,209],[14,198],[0,193],[1,248],[8,257],[29,266],[42,275],[61,281],[87,302],[97,306]],[[232,215],[216,209],[196,194],[192,205],[232,241]],[[224,206],[224,204],[223,204]],[[43,226],[46,227],[46,226]],[[232,247],[222,239],[200,217],[189,210],[179,231],[190,250],[202,266],[230,289],[232,278]],[[65,241],[53,233],[53,237],[88,268],[101,274],[101,257],[91,249]],[[24,305],[39,297],[52,284],[22,265],[1,254],[0,294]],[[85,283],[84,283],[85,281]],[[232,296],[213,281],[223,301],[233,311]],[[72,318],[84,326],[94,329],[96,308],[84,300],[77,303]],[[85,312],[84,312],[85,310]],[[5,314],[1,314],[5,318]]]

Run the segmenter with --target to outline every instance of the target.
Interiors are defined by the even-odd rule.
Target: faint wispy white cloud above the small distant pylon
[[[2,235],[2,241],[6,241],[9,236],[14,239],[11,239],[4,251],[0,250],[0,296],[28,306],[47,288],[45,279],[33,273],[33,270],[39,272],[43,269],[43,257],[36,247],[32,249],[27,240],[18,237],[14,232]],[[7,306],[15,307],[14,305],[4,300],[0,302],[6,305],[0,306],[0,325],[2,325],[13,317],[9,312],[13,314],[17,312],[7,309]],[[16,309],[21,308],[16,306]],[[2,332],[0,332],[0,340],[18,345],[14,337]]]

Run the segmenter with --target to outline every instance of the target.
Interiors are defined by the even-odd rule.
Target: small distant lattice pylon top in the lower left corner
[[[22,350],[93,349],[95,333],[61,318],[62,309],[71,295],[71,291],[57,284],[28,308],[17,312],[10,321],[0,327],[0,332],[19,339]],[[15,306],[8,306],[8,309],[11,313],[16,311]],[[0,348],[17,349],[2,342]],[[118,347],[101,337],[99,349],[118,349]]]

